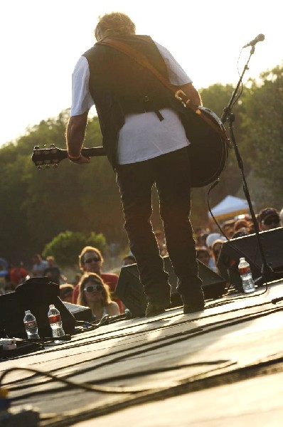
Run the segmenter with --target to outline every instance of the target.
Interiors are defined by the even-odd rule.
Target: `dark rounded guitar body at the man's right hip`
[[[181,117],[186,136],[191,144],[188,154],[191,168],[191,186],[201,187],[216,181],[225,169],[228,159],[228,138],[220,118],[208,108],[198,107],[222,132],[217,132],[200,115],[188,108]]]

